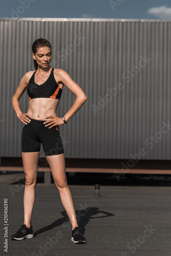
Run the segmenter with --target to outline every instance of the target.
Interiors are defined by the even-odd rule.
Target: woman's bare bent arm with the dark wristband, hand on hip
[[[86,94],[82,91],[82,89],[78,86],[78,84],[72,80],[70,75],[65,70],[62,70],[62,69],[58,70],[58,78],[76,96],[75,102],[72,105],[71,109],[65,114],[65,116],[63,116],[67,122],[71,117],[75,115],[75,113],[81,108],[83,103],[86,102],[88,98]],[[52,124],[50,128],[52,128],[56,124],[59,124],[59,125],[64,124],[62,118],[59,118],[59,117],[55,118],[52,116],[47,116],[46,118],[53,118],[52,120],[49,119],[48,121],[45,122],[45,124],[48,124],[49,122],[51,122],[49,123],[49,125],[47,125],[47,126],[50,126]]]

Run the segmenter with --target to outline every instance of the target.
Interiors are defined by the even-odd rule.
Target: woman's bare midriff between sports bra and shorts
[[[57,116],[56,110],[59,99],[53,98],[35,98],[29,100],[28,114],[32,119],[46,121],[47,116]]]

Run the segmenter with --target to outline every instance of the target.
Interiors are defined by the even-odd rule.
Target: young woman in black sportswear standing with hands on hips
[[[71,191],[67,184],[59,125],[67,123],[74,116],[87,100],[87,96],[66,71],[50,66],[52,51],[48,40],[44,38],[35,40],[32,52],[36,71],[29,71],[23,76],[12,97],[13,109],[19,120],[24,123],[22,160],[25,172],[25,190],[24,224],[11,236],[11,239],[33,238],[31,217],[35,201],[40,143],[42,143],[62,205],[72,224],[71,240],[74,243],[86,243],[81,228],[78,227]],[[58,117],[56,109],[64,84],[76,95],[76,99],[71,109],[63,117]],[[27,113],[22,113],[19,99],[26,89],[29,96],[29,109]]]

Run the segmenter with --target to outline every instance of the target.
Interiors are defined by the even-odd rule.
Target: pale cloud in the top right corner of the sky
[[[153,14],[162,19],[171,19],[171,8],[167,6],[153,7],[147,10],[148,14]]]

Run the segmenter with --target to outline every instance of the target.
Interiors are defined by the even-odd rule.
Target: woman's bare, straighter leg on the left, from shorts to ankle
[[[37,178],[39,152],[22,152],[23,167],[25,172],[24,191],[24,224],[31,227],[31,217],[35,201],[35,185]]]

